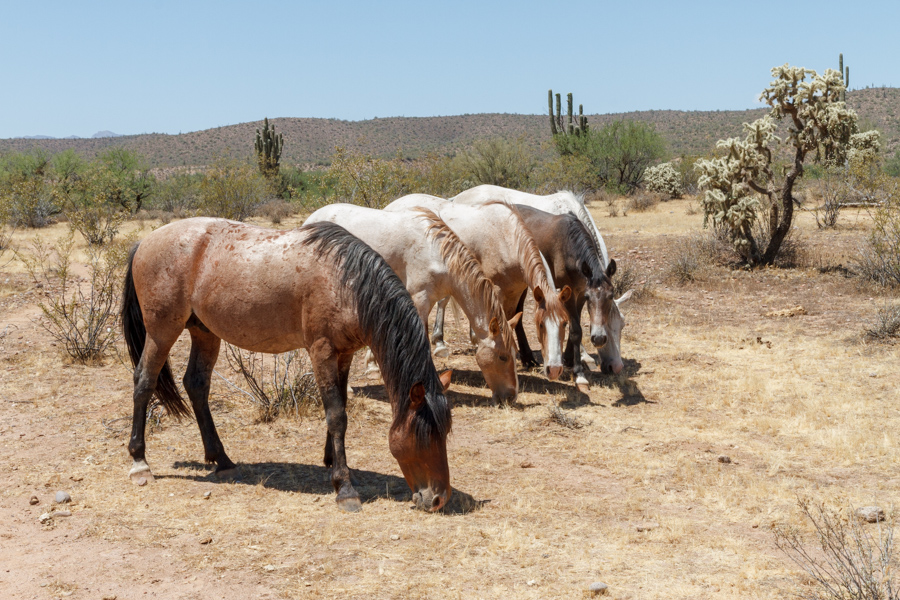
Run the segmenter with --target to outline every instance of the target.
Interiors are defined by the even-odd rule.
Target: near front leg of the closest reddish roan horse
[[[337,504],[341,510],[357,512],[362,509],[359,493],[350,482],[350,469],[344,451],[344,435],[347,432],[347,382],[353,354],[339,355],[327,342],[317,342],[309,350],[316,382],[325,406],[325,422],[328,425],[326,443],[331,442],[331,452],[325,450],[326,466],[331,461],[331,484],[337,492]]]

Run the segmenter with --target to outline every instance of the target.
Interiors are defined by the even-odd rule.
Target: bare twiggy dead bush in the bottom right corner
[[[811,585],[799,593],[810,600],[897,600],[894,580],[893,517],[878,523],[874,534],[852,510],[843,512],[808,500],[800,510],[815,529],[815,542],[807,543],[789,526],[775,527],[775,545],[810,577]]]

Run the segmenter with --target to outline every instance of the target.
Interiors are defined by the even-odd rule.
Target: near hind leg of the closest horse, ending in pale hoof
[[[153,472],[147,464],[146,443],[144,432],[147,425],[147,407],[150,398],[156,391],[156,382],[160,371],[166,364],[169,350],[178,336],[171,341],[158,344],[153,338],[147,337],[141,359],[134,369],[134,415],[131,421],[131,439],[128,442],[128,453],[131,454],[133,463],[128,476],[135,485],[144,485],[153,481]]]

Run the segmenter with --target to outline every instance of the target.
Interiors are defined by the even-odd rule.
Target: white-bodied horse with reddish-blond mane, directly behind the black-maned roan
[[[513,328],[522,315],[507,322],[494,286],[446,223],[427,209],[384,212],[329,204],[310,215],[306,224],[328,221],[347,229],[387,261],[406,285],[426,330],[435,302],[453,297],[475,333],[475,361],[494,401],[515,399],[518,379]],[[442,351],[449,352],[443,343],[435,354],[440,356]]]

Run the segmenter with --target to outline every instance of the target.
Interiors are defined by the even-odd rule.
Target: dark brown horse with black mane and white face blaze
[[[604,269],[601,266],[597,247],[584,225],[572,214],[552,215],[525,206],[515,205],[525,226],[534,236],[541,254],[547,259],[556,285],[572,288],[572,297],[566,302],[569,311],[569,341],[566,344],[564,360],[572,368],[575,383],[587,386],[588,379],[581,361],[581,311],[587,304],[591,323],[591,341],[598,348],[606,344],[606,323],[614,306],[612,277],[616,272],[616,261],[610,261]],[[519,300],[518,309],[525,304],[525,293]],[[525,329],[516,327],[519,352],[531,354]]]

